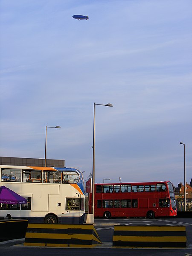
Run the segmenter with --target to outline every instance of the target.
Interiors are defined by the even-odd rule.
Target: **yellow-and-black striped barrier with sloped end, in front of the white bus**
[[[28,224],[24,245],[94,247],[102,244],[93,224]]]

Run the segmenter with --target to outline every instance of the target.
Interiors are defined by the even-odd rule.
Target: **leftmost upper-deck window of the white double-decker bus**
[[[1,168],[1,181],[20,182],[21,169]]]

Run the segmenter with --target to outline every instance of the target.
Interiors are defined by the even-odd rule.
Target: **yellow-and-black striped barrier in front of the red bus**
[[[183,248],[185,226],[114,226],[113,247]]]

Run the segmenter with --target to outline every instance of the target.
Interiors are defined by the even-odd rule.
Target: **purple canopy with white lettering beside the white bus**
[[[27,200],[6,186],[0,186],[1,204],[26,204]]]

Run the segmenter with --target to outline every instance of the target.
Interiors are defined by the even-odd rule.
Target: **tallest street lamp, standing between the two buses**
[[[93,110],[93,172],[92,172],[92,214],[93,214],[93,223],[94,223],[94,215],[95,215],[95,105],[113,107],[111,103],[106,105],[104,104],[96,104],[94,103]]]

